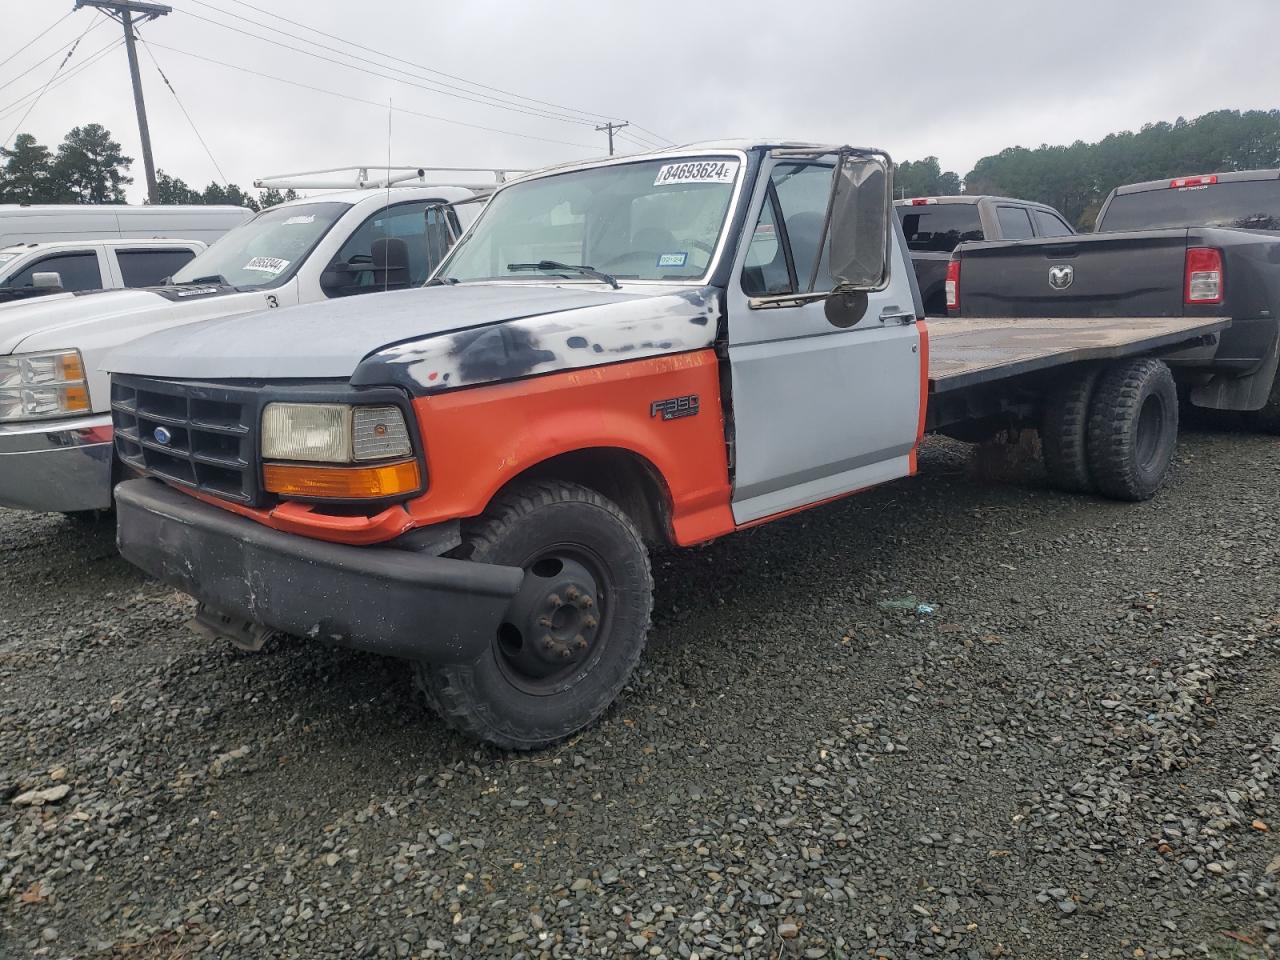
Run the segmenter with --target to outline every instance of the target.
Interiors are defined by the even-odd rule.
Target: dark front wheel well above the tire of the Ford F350
[[[658,468],[639,453],[618,447],[593,447],[544,460],[513,477],[567,480],[608,497],[631,518],[645,543],[671,545],[671,494]],[[503,488],[506,489],[506,486]]]

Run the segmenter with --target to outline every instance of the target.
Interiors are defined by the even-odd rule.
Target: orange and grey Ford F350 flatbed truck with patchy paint
[[[124,557],[242,646],[411,660],[511,749],[620,694],[649,548],[905,477],[925,430],[1034,425],[1062,486],[1156,493],[1166,351],[1230,321],[923,321],[876,150],[735,141],[502,186],[424,288],[116,351]]]

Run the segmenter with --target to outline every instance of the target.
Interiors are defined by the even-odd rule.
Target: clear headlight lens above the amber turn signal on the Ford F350
[[[268,403],[262,458],[355,463],[413,454],[398,407],[346,403]]]

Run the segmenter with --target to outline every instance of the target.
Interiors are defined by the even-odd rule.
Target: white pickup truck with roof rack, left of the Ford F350
[[[0,507],[81,513],[111,506],[118,465],[102,361],[116,347],[202,320],[426,280],[483,205],[463,201],[483,200],[495,178],[485,170],[471,186],[433,184],[417,173],[411,183],[361,180],[264,210],[152,280],[163,285],[0,306]],[[59,266],[38,253],[37,261],[37,270]],[[64,283],[68,275],[64,266]],[[253,324],[275,319],[259,314]]]

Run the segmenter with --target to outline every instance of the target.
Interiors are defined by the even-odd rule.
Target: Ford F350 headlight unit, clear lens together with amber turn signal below
[[[261,449],[265,461],[326,465],[266,463],[262,479],[271,493],[378,499],[412,493],[421,483],[399,407],[268,403]]]

